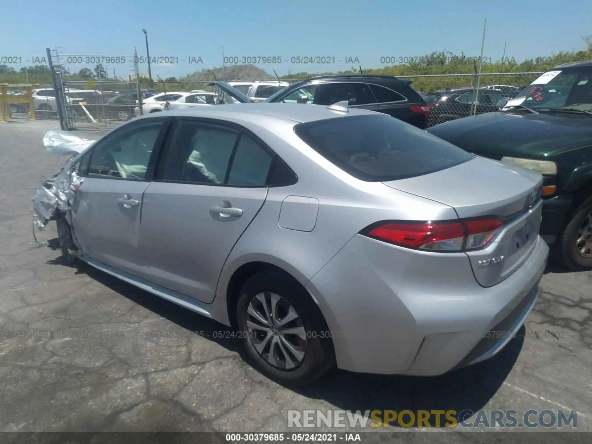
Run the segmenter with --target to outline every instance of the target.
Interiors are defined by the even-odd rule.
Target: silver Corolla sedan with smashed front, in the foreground
[[[334,363],[443,374],[522,326],[548,254],[539,173],[346,102],[206,108],[76,157],[71,254],[236,327],[290,384]]]

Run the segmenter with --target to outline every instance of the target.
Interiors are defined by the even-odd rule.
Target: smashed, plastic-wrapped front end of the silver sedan
[[[60,131],[48,131],[43,137],[47,150],[58,156],[69,155],[70,159],[61,172],[43,182],[33,198],[34,230],[43,230],[49,221],[55,220],[60,249],[66,262],[72,264],[78,258],[78,242],[72,224],[76,191],[83,178],[78,175],[81,154],[94,143]],[[37,240],[37,239],[36,239]]]

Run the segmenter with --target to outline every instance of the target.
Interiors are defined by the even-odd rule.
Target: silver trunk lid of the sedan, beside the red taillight
[[[532,253],[539,234],[542,176],[484,157],[432,174],[385,185],[453,207],[461,219],[497,217],[504,226],[481,250],[468,251],[475,279],[491,287],[509,277]]]

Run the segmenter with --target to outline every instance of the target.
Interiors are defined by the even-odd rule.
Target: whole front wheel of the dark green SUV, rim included
[[[558,249],[562,265],[567,268],[592,268],[592,197],[575,209],[561,234]]]

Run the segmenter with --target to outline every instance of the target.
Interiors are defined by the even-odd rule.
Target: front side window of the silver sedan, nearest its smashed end
[[[163,123],[150,119],[99,141],[91,155],[88,175],[143,181]]]

